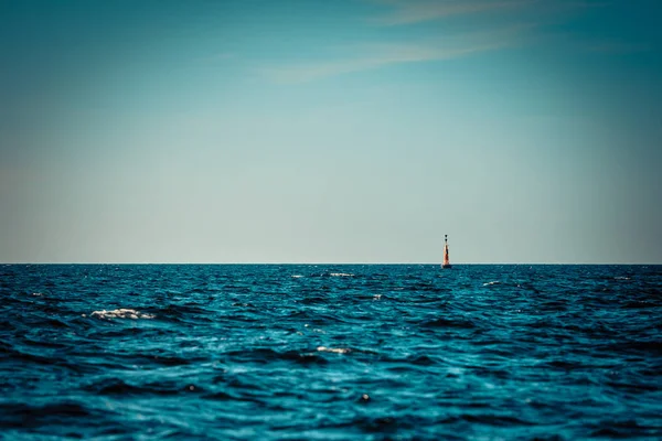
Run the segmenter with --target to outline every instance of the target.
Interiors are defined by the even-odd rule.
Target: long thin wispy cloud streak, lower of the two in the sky
[[[452,60],[519,44],[533,25],[512,26],[492,33],[474,33],[426,44],[360,44],[354,56],[322,63],[299,63],[264,69],[278,83],[305,83],[333,75],[375,69],[387,65]]]

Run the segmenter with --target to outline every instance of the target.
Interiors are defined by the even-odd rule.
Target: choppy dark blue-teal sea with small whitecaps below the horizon
[[[662,439],[662,266],[0,266],[0,439]]]

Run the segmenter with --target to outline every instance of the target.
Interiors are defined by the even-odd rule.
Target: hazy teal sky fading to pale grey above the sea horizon
[[[0,262],[662,263],[661,15],[0,0]]]

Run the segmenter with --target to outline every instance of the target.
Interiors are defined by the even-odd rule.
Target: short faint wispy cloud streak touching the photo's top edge
[[[438,20],[451,15],[493,13],[540,3],[540,0],[380,0],[393,7],[389,13],[375,17],[375,24],[398,25]]]

